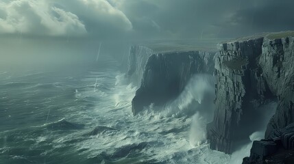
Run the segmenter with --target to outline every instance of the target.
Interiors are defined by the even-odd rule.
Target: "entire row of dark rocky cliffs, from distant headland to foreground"
[[[276,162],[282,155],[291,159],[294,33],[262,33],[223,42],[218,48],[216,54],[160,53],[133,46],[128,77],[136,79],[140,88],[132,100],[132,112],[136,115],[144,107],[173,100],[193,74],[214,74],[215,115],[206,126],[210,148],[228,154],[240,149],[249,142],[249,135],[263,128],[267,115],[260,108],[275,101],[278,107],[267,124],[265,139],[254,141],[252,154],[244,162],[263,163],[269,156],[275,156]]]

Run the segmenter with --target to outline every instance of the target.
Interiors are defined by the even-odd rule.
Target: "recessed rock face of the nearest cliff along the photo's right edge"
[[[265,39],[260,66],[271,92],[278,97],[278,109],[267,126],[265,137],[294,122],[294,37]]]

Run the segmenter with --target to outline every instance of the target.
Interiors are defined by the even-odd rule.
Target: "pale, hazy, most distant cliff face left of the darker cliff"
[[[140,85],[147,59],[154,51],[147,46],[133,45],[130,48],[127,67],[127,79],[135,85]]]

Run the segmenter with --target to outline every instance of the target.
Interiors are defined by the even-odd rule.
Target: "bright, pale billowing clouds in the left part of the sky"
[[[0,3],[0,33],[86,36],[130,31],[132,23],[106,0],[15,0]]]

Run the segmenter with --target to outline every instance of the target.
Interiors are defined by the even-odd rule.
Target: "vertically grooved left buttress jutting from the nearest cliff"
[[[249,122],[257,124],[257,115],[252,113],[258,107],[258,99],[262,99],[259,94],[270,95],[263,94],[268,91],[267,85],[260,78],[256,61],[262,53],[262,41],[258,38],[219,47],[221,51],[215,61],[215,118],[207,126],[212,149],[232,153],[256,131],[247,126]]]

